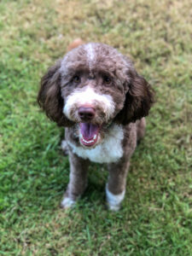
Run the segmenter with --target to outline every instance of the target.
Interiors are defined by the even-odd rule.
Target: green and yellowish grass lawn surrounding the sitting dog
[[[103,3],[102,3],[103,2]],[[0,255],[192,255],[190,1],[0,2]],[[110,44],[156,91],[119,212],[105,166],[72,211],[63,129],[38,109],[47,67],[74,38]]]

